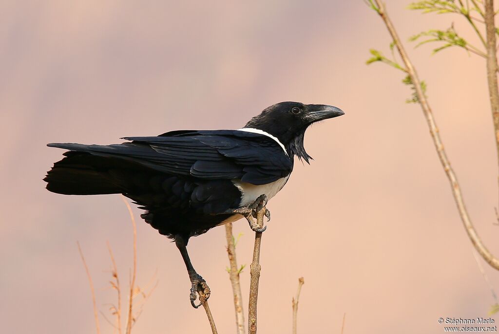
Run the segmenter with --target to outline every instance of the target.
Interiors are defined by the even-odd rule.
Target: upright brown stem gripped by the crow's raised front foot
[[[256,224],[263,227],[263,217],[265,216],[265,206],[256,213]],[[248,333],[256,334],[256,305],[258,301],[258,280],[260,279],[260,245],[261,232],[255,232],[253,261],[250,265],[250,303],[248,306]]]

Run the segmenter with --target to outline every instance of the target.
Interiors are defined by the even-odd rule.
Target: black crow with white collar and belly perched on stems
[[[197,293],[201,300],[211,291],[191,263],[189,239],[241,218],[263,232],[266,226],[252,217],[286,184],[294,157],[310,164],[305,130],[343,114],[329,105],[280,102],[238,130],[177,130],[112,145],[51,143],[68,151],[43,180],[54,193],[121,193],[138,204],[141,217],[174,240],[191,281],[189,299],[198,308]],[[265,216],[270,219],[267,209]]]

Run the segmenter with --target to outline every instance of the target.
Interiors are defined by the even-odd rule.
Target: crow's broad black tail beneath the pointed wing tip
[[[47,189],[65,195],[121,193],[123,189],[109,177],[116,159],[93,156],[85,152],[66,152],[66,158],[54,164],[43,179]],[[114,165],[114,166],[113,166]]]

